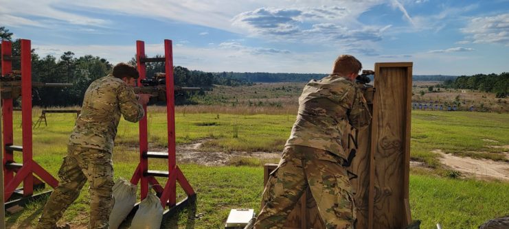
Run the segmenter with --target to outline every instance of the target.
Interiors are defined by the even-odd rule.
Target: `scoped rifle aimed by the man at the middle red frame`
[[[149,94],[150,97],[157,97],[157,101],[166,101],[166,74],[155,73],[151,79],[139,81],[141,86],[133,87],[135,94]],[[201,91],[199,87],[174,86],[174,91]]]

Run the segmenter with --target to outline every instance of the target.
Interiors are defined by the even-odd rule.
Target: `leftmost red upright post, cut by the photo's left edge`
[[[5,60],[6,56],[12,56],[12,43],[7,40],[2,41],[1,61],[2,61],[2,77],[12,73],[12,61]],[[13,162],[14,155],[11,150],[6,150],[5,146],[12,145],[14,138],[12,134],[12,98],[2,98],[2,118],[3,118],[3,174],[4,186],[14,178],[14,171],[5,169],[6,162]]]

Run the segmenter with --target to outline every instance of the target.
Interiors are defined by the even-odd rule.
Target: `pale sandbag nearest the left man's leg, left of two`
[[[119,178],[113,185],[113,209],[109,224],[111,229],[117,229],[136,204],[137,186],[123,178]]]

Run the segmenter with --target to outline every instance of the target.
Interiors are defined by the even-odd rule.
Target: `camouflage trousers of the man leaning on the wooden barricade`
[[[313,147],[288,145],[262,199],[254,228],[283,228],[286,217],[309,187],[326,228],[354,228],[356,208],[343,158]]]

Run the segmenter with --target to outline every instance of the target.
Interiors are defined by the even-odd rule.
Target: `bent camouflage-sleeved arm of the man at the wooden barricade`
[[[357,86],[352,86],[350,91],[351,95],[348,96],[353,99],[352,106],[348,109],[348,121],[354,128],[363,128],[371,123],[371,113],[367,108],[366,99],[364,99],[361,89]]]

